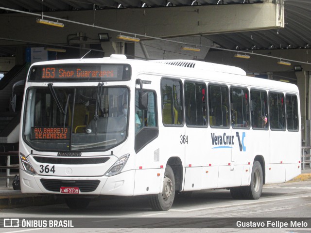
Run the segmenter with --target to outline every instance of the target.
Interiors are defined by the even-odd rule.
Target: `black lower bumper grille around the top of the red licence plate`
[[[41,184],[49,191],[59,192],[60,187],[79,187],[80,192],[93,192],[100,180],[50,180],[40,179]]]

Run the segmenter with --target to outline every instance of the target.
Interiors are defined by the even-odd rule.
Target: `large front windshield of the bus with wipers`
[[[23,138],[36,150],[109,150],[125,140],[128,89],[125,87],[30,88]]]

